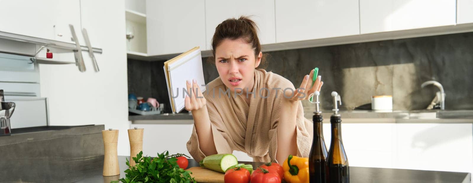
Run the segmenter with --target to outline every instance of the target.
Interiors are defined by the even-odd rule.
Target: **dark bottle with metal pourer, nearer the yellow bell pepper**
[[[322,112],[319,110],[319,91],[315,91],[315,112],[312,116],[314,122],[314,137],[309,154],[309,179],[310,183],[327,183],[327,146],[325,146],[322,121]]]

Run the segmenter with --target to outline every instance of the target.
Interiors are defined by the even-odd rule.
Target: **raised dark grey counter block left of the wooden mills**
[[[103,164],[104,128],[83,125],[12,129],[14,134],[0,136],[0,182],[83,179],[83,175],[94,173],[94,167]]]

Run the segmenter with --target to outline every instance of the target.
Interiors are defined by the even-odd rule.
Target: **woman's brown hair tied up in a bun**
[[[260,40],[258,39],[258,26],[250,19],[251,16],[241,16],[238,19],[228,18],[223,21],[215,28],[215,33],[212,37],[212,55],[213,58],[210,58],[208,61],[215,63],[215,49],[222,43],[225,39],[237,40],[245,39],[245,41],[251,45],[251,48],[254,50],[254,57],[258,58],[258,54],[261,51]],[[266,56],[263,54],[261,58],[261,63],[259,67],[266,66]]]

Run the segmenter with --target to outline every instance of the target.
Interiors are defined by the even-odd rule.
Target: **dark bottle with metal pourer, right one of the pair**
[[[342,117],[338,114],[337,102],[342,105],[342,100],[337,92],[332,92],[333,97],[333,115],[330,116],[330,124],[332,126],[332,139],[330,141],[330,150],[328,151],[327,167],[328,167],[328,183],[349,183],[350,170],[348,166],[348,158],[343,148],[342,142]]]

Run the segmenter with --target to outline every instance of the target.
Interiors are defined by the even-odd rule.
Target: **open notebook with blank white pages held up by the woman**
[[[166,75],[167,91],[173,113],[179,113],[184,109],[184,99],[187,95],[186,81],[197,80],[202,91],[205,91],[204,73],[202,69],[201,49],[194,47],[183,54],[164,62],[164,74]],[[195,92],[195,91],[194,91]]]

